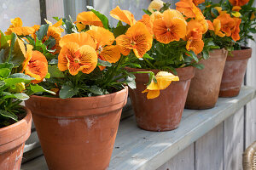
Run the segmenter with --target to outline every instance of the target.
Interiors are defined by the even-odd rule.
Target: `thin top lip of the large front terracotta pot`
[[[117,91],[117,92],[114,92],[112,94],[104,94],[104,95],[99,95],[99,96],[91,96],[91,97],[82,97],[82,98],[67,98],[67,99],[61,99],[61,98],[51,98],[51,97],[45,97],[45,96],[39,96],[39,95],[32,95],[31,98],[34,98],[34,99],[49,99],[49,100],[81,100],[81,99],[101,99],[101,98],[106,98],[106,97],[111,97],[113,95],[117,95],[117,94],[122,94],[124,93],[124,91],[128,90],[128,87],[125,86],[125,88]]]

